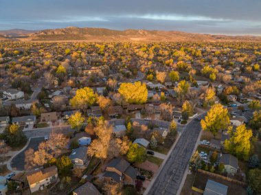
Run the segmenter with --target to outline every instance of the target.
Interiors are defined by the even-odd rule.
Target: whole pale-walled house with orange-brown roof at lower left
[[[27,174],[26,177],[31,193],[34,193],[38,190],[43,190],[47,185],[56,182],[58,179],[58,171],[56,166],[52,166],[43,170],[34,170]]]

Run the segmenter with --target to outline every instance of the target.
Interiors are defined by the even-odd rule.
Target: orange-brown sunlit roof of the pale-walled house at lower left
[[[34,170],[33,172],[30,172],[27,174],[27,180],[28,183],[32,185],[33,183],[37,183],[56,174],[58,174],[57,168],[56,166],[52,166],[43,170]]]

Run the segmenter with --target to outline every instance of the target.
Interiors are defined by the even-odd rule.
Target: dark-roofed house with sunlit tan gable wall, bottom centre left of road
[[[106,172],[103,175],[104,181],[111,183],[131,183],[133,184],[137,170],[124,159],[113,159],[105,168]]]

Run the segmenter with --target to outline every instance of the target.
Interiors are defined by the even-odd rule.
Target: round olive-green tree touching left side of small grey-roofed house
[[[138,144],[131,144],[130,149],[127,152],[127,159],[131,163],[142,163],[146,157],[146,150],[144,147]]]

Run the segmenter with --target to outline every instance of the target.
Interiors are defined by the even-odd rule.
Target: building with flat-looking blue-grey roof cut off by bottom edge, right
[[[227,195],[227,185],[207,179],[207,184],[203,195]]]

